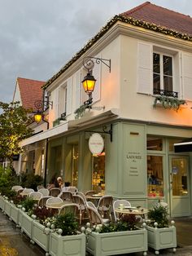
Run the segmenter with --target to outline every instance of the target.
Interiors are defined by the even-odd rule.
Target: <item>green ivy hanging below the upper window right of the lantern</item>
[[[158,95],[155,96],[153,107],[156,108],[157,104],[162,104],[166,109],[173,109],[177,111],[181,105],[186,104],[186,101],[184,99]]]

